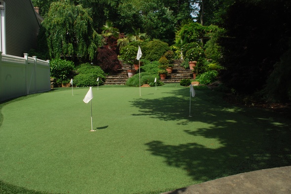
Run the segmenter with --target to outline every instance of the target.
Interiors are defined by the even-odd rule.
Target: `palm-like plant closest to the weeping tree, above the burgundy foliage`
[[[105,25],[102,27],[102,36],[108,43],[109,49],[111,49],[112,43],[119,37],[119,30],[113,27],[113,23],[109,20],[106,21]]]

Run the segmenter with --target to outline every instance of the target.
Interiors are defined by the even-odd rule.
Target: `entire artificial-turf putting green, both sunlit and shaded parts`
[[[291,165],[290,121],[189,88],[55,89],[2,103],[0,191],[158,194]],[[11,189],[12,188],[12,189]],[[11,192],[10,192],[11,193]],[[12,194],[12,193],[11,193]]]

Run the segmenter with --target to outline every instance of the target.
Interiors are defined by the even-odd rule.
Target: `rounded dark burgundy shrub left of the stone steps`
[[[97,62],[101,69],[107,73],[117,72],[118,69],[122,68],[117,54],[106,47],[98,48]]]

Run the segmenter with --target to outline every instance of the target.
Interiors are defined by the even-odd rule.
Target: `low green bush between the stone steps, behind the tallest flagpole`
[[[155,77],[149,73],[143,72],[143,73],[141,73],[141,85],[149,84],[150,86],[153,86],[153,85],[155,85],[155,83],[154,83],[155,78],[158,78],[158,77]],[[157,85],[163,85],[163,84],[164,84],[163,82],[161,82],[160,80],[157,79]],[[135,87],[140,86],[140,75],[136,74],[133,77],[128,78],[126,80],[126,85],[135,86]]]

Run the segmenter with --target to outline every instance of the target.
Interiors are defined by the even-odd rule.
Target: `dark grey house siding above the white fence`
[[[23,57],[36,49],[39,23],[31,0],[5,0],[6,54]]]

